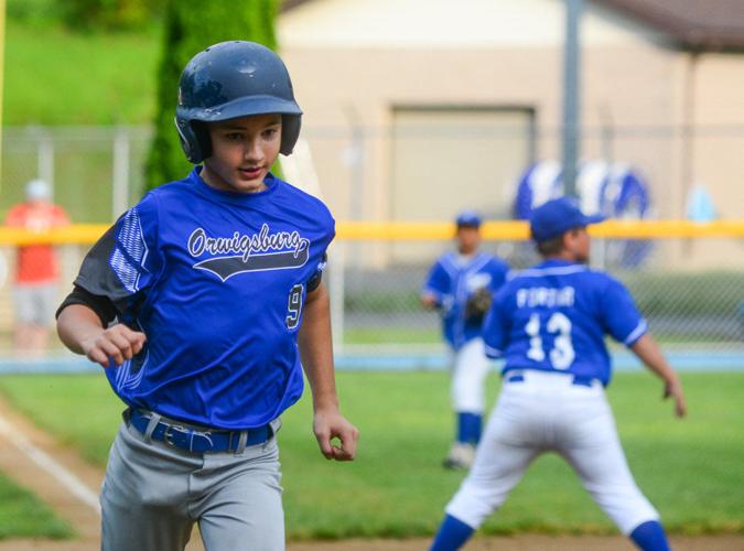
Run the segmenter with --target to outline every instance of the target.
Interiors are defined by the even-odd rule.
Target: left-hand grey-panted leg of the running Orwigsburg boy
[[[145,442],[122,424],[111,446],[100,494],[103,551],[182,551],[194,520],[188,474],[201,458]]]

